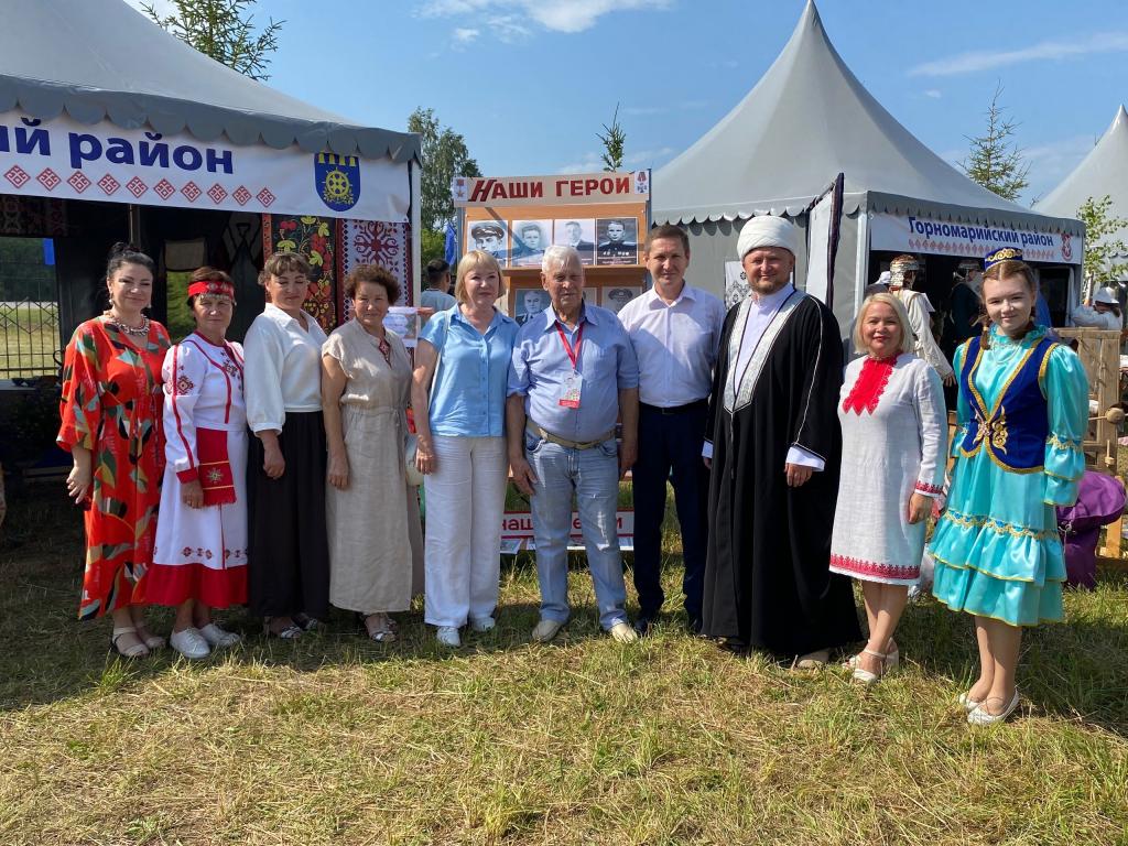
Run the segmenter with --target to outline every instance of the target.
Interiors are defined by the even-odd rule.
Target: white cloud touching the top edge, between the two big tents
[[[502,41],[528,35],[535,24],[555,33],[582,33],[615,11],[661,10],[672,0],[425,0],[426,18],[475,16],[494,28]]]

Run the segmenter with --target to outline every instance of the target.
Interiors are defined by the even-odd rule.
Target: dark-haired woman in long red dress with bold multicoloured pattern
[[[142,314],[153,274],[149,256],[114,246],[106,267],[109,309],[79,325],[67,345],[58,438],[74,461],[67,492],[86,509],[78,616],[111,613],[111,643],[126,658],[165,645],[141,613],[165,468],[160,364],[168,333]]]

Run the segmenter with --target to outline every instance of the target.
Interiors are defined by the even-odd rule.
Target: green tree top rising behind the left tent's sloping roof
[[[256,34],[247,15],[257,0],[173,0],[176,14],[161,17],[152,3],[141,6],[146,15],[191,47],[252,79],[265,73],[270,54],[279,49],[284,20],[270,19]]]

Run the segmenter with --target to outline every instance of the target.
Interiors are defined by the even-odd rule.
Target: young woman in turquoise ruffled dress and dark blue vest
[[[1036,291],[1017,249],[989,254],[989,328],[953,361],[959,428],[948,506],[932,541],[933,593],[976,619],[979,679],[960,696],[973,725],[1001,722],[1019,705],[1022,627],[1064,617],[1054,506],[1074,503],[1085,469],[1085,371],[1076,353],[1034,325]]]

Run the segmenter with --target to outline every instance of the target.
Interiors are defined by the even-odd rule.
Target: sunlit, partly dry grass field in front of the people
[[[499,627],[455,652],[417,609],[388,645],[343,616],[267,642],[236,615],[252,636],[226,655],[124,663],[72,618],[78,513],[39,491],[5,532],[3,844],[1128,843],[1123,574],[1028,636],[1021,717],[971,730],[970,626],[931,601],[872,690],[693,638],[672,598],[618,646],[579,570],[566,636],[532,645],[526,557]]]

